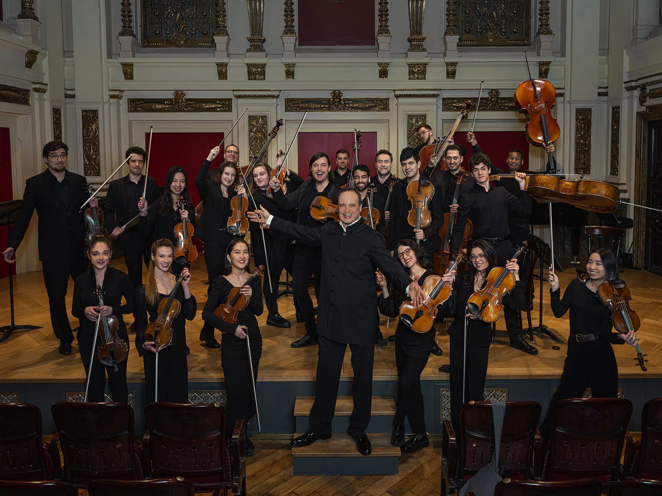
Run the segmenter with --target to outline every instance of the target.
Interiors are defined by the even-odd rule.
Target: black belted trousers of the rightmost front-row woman
[[[551,429],[551,406],[559,399],[581,398],[586,388],[591,387],[594,398],[618,396],[618,365],[610,343],[568,341],[568,356],[563,364],[561,383],[549,401],[547,415],[540,426],[540,435],[548,440]]]

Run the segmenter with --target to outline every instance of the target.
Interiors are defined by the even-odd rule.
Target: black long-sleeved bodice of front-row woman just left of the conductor
[[[236,286],[224,276],[218,276],[214,279],[214,284],[209,292],[209,299],[205,304],[205,310],[203,310],[203,320],[216,327],[219,331],[228,334],[234,334],[238,325],[245,325],[248,327],[249,331],[260,331],[258,319],[256,319],[256,316],[259,317],[262,315],[264,310],[261,290],[262,280],[260,277],[254,278],[250,283],[250,287],[253,289],[253,294],[250,297],[250,300],[248,300],[248,306],[238,313],[236,324],[229,324],[214,315],[214,310],[228,301],[230,291],[235,287]]]

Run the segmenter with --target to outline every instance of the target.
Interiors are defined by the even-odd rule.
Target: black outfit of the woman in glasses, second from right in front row
[[[455,432],[459,432],[459,409],[462,406],[462,381],[464,364],[464,312],[473,294],[473,281],[466,286],[465,274],[462,272],[455,278],[453,292],[450,298],[439,308],[440,317],[453,317],[453,323],[448,327],[450,339],[450,393],[451,393],[451,423]],[[517,281],[510,293],[502,298],[505,310],[526,310],[526,284]],[[475,319],[467,319],[467,376],[465,386],[465,401],[483,401],[485,378],[487,377],[487,362],[489,361],[490,344],[492,343],[492,324]]]

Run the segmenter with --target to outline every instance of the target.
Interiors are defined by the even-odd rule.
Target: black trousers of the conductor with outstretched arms
[[[340,371],[345,358],[346,343],[338,343],[319,336],[320,349],[317,354],[317,378],[315,401],[310,409],[308,430],[315,434],[331,434],[331,422],[336,409]],[[359,436],[370,423],[372,407],[372,374],[375,360],[375,345],[350,345],[352,351],[352,396],[354,409],[350,416],[350,436]]]

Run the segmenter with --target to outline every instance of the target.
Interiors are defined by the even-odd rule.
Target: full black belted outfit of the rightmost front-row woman
[[[600,296],[585,282],[571,280],[565,288],[551,291],[551,311],[557,318],[570,310],[568,355],[563,364],[561,383],[549,402],[540,434],[549,439],[551,405],[559,399],[581,398],[591,386],[594,398],[615,398],[618,394],[618,365],[612,345],[625,343],[612,332],[612,312],[602,304]],[[595,335],[597,339],[579,343],[577,335]],[[595,337],[594,336],[594,337]]]

